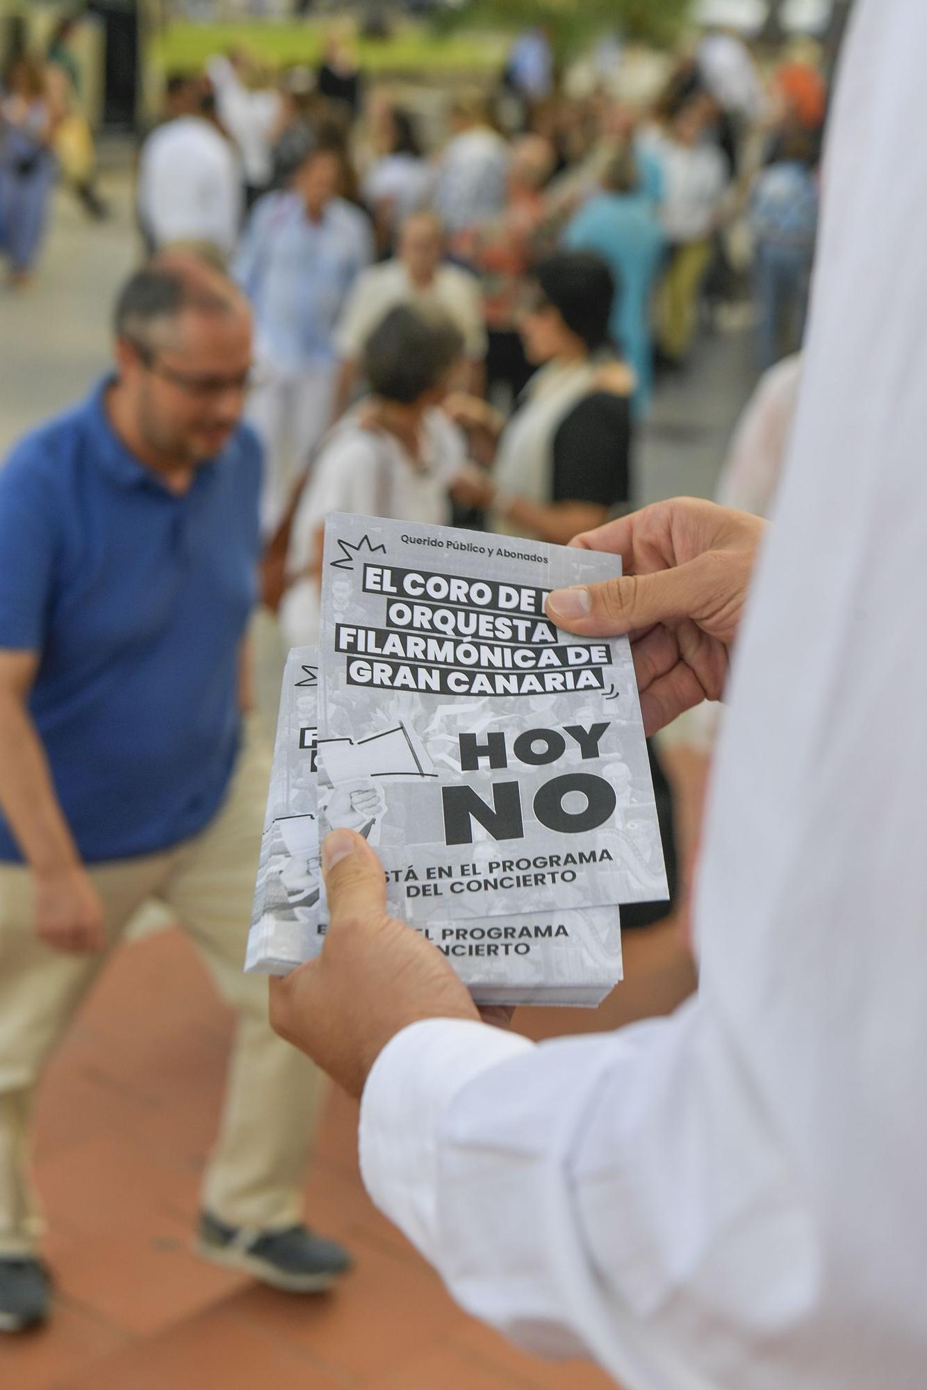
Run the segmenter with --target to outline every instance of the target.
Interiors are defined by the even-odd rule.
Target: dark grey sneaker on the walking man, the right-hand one
[[[306,1226],[261,1232],[227,1226],[210,1212],[200,1216],[196,1252],[292,1294],[324,1293],[352,1266],[346,1250]]]

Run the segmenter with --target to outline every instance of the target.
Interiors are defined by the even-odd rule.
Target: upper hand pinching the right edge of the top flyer
[[[674,498],[574,537],[624,560],[624,577],[556,589],[546,613],[584,637],[630,634],[645,733],[720,699],[766,523]]]

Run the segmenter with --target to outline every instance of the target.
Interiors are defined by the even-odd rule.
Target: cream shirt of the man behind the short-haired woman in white
[[[339,357],[360,357],[370,334],[397,304],[434,304],[443,309],[463,334],[467,356],[484,357],[486,328],[477,277],[459,265],[439,265],[431,285],[418,289],[400,260],[371,265],[359,275],[335,331]]]

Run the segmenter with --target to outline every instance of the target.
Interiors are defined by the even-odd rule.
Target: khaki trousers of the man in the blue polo
[[[225,802],[199,835],[164,853],[90,866],[110,949],[147,901],[163,902],[238,1011],[218,1141],[203,1205],[233,1226],[300,1218],[321,1074],[267,1017],[267,980],[242,973],[270,760],[249,731]],[[43,1066],[106,960],[65,955],[33,930],[28,869],[0,866],[0,1254],[28,1254],[42,1218],[28,1177],[28,1122]]]

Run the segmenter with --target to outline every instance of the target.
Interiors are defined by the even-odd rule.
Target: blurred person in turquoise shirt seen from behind
[[[650,299],[664,238],[653,199],[641,186],[637,160],[630,150],[614,157],[602,190],[573,217],[564,245],[571,250],[595,252],[612,271],[617,286],[612,336],[634,370],[634,411],[645,414],[653,389]]]

